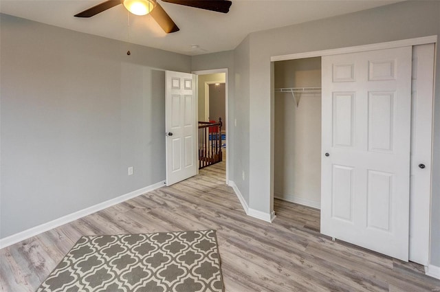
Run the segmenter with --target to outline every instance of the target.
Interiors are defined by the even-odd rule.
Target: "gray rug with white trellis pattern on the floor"
[[[223,291],[215,231],[83,236],[36,291]]]

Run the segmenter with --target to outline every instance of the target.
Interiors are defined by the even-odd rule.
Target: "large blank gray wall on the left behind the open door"
[[[163,70],[189,72],[189,56],[5,14],[0,27],[0,238],[165,179]]]

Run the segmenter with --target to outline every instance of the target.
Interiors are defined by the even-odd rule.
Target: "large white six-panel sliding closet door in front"
[[[321,232],[406,261],[411,55],[322,57]]]

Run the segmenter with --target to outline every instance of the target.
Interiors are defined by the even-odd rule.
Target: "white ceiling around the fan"
[[[186,55],[234,49],[250,32],[269,30],[399,1],[232,0],[228,14],[157,0],[179,26],[165,34],[149,15],[129,14],[118,5],[89,19],[74,17],[104,0],[0,0],[0,12],[69,30],[129,41]],[[199,45],[192,49],[191,45]]]

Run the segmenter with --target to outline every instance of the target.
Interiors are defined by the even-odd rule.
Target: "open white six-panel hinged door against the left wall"
[[[197,174],[196,76],[166,71],[166,186]]]

